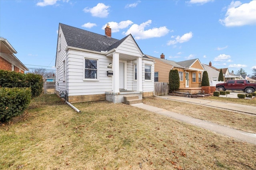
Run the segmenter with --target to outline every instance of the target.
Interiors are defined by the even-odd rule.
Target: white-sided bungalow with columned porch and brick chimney
[[[154,94],[154,60],[146,57],[132,35],[121,40],[60,23],[56,51],[56,94],[68,102],[108,100]]]

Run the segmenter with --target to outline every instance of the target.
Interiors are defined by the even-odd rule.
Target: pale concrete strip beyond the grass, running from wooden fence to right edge
[[[189,102],[192,104],[200,104],[208,107],[217,107],[220,109],[229,109],[232,111],[240,111],[240,112],[256,115],[256,106],[219,102],[219,101],[206,100],[206,99],[200,99],[200,98],[186,98],[186,97],[180,97],[180,96],[160,96],[160,98],[175,100],[179,102]]]

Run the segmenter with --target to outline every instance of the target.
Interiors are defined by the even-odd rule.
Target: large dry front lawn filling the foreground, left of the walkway
[[[256,145],[125,104],[74,106],[42,95],[2,125],[0,169],[256,169]]]

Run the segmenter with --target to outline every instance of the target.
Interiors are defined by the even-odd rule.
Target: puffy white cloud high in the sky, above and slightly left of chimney
[[[94,17],[106,18],[109,14],[108,8],[110,8],[110,6],[106,6],[103,3],[98,3],[96,6],[92,8],[89,8],[89,7],[84,8],[83,11],[90,12]]]

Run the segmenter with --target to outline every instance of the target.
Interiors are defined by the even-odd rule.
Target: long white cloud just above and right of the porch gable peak
[[[123,34],[132,34],[134,39],[148,39],[154,37],[163,37],[170,31],[166,28],[166,26],[145,30],[145,27],[149,26],[151,22],[151,20],[148,20],[144,23],[141,23],[140,25],[133,24],[126,32],[123,32]]]

